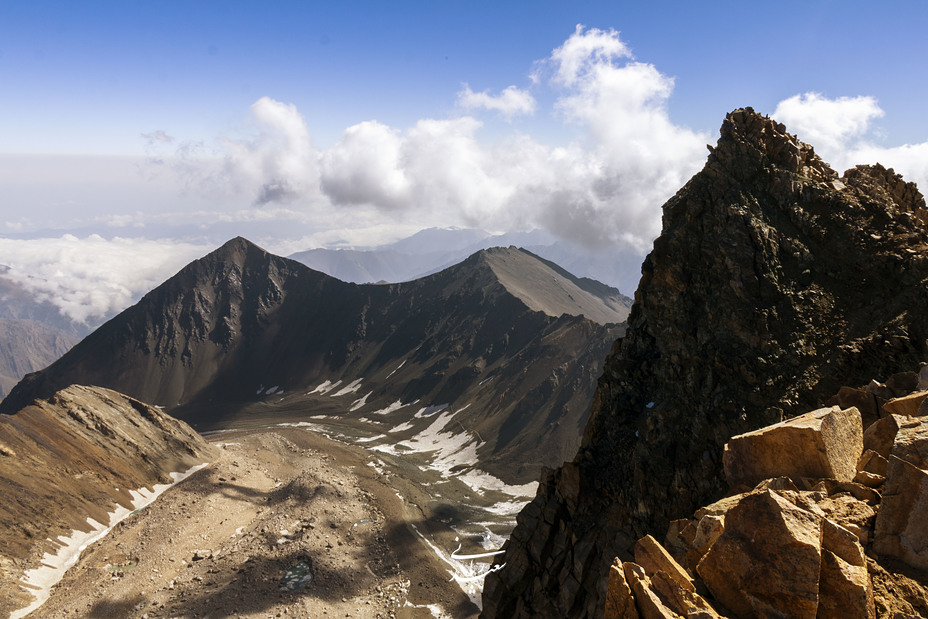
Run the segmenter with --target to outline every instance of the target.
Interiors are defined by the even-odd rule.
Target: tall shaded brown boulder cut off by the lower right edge
[[[896,456],[889,459],[873,550],[928,569],[928,472]]]

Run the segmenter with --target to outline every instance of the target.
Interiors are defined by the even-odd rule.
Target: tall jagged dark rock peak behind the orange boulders
[[[879,166],[839,178],[751,109],[710,150],[663,207],[582,446],[519,515],[484,617],[599,616],[615,556],[724,494],[729,437],[926,356],[914,185]]]

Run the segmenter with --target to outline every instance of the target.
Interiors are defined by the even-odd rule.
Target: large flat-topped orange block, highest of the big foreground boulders
[[[732,437],[725,445],[725,478],[733,488],[779,476],[851,481],[863,452],[856,408],[821,408]]]

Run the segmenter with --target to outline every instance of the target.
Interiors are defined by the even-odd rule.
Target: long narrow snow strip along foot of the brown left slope
[[[10,615],[10,619],[20,619],[25,617],[36,608],[45,603],[48,599],[48,596],[51,592],[51,588],[54,587],[65,575],[75,563],[80,558],[81,553],[87,549],[88,546],[94,542],[102,539],[107,533],[109,533],[113,527],[122,522],[129,516],[132,512],[147,507],[155,499],[157,499],[161,494],[173,486],[174,484],[181,482],[206,465],[208,462],[199,464],[197,466],[190,467],[186,471],[171,473],[171,479],[173,480],[169,484],[155,484],[152,486],[151,490],[147,488],[139,488],[138,490],[130,490],[129,493],[132,495],[132,509],[122,507],[121,505],[116,506],[116,510],[110,512],[109,522],[107,524],[100,524],[93,518],[87,519],[87,524],[91,526],[91,530],[84,533],[82,531],[72,532],[70,537],[59,536],[58,542],[61,543],[61,547],[58,549],[56,554],[45,553],[45,556],[42,557],[42,565],[32,570],[26,570],[23,574],[22,579],[20,580],[21,584],[32,593],[35,598],[29,606],[26,608],[21,608],[19,610],[13,611]]]

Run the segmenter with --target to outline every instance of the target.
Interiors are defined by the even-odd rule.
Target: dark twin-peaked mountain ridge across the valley
[[[359,286],[234,239],[29,375],[0,412],[72,383],[200,427],[272,416],[280,392],[279,406],[304,417],[379,411],[405,422],[447,406],[481,437],[481,464],[525,483],[579,444],[601,360],[623,328],[600,323],[626,311],[617,290],[515,248],[413,282]],[[315,389],[325,381],[360,391],[335,404]],[[383,413],[391,404],[397,412]]]

